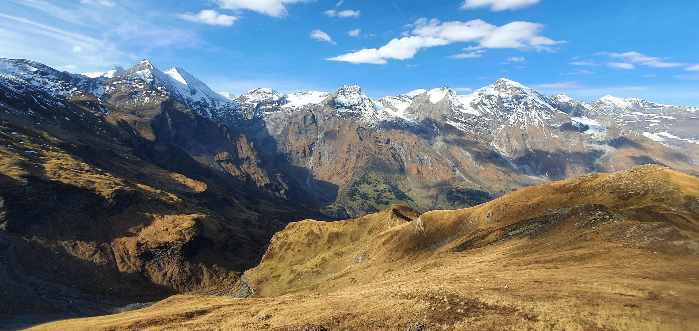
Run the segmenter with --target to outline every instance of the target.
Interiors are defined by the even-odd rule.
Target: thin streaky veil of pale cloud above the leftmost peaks
[[[187,30],[149,17],[131,8],[129,2],[115,6],[97,0],[55,6],[41,0],[15,0],[36,9],[31,17],[0,14],[0,50],[3,57],[29,58],[54,68],[76,66],[78,72],[106,70],[127,65],[152,52],[173,52],[208,45]],[[62,20],[48,20],[46,15]],[[136,50],[135,54],[131,50]]]

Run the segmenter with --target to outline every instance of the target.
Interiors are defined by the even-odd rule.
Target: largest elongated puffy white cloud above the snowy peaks
[[[449,45],[452,43],[479,43],[475,52],[453,55],[456,58],[477,57],[481,48],[515,48],[517,50],[546,50],[553,52],[552,45],[565,43],[554,41],[538,33],[544,28],[542,24],[531,22],[512,22],[497,27],[482,20],[468,22],[440,22],[421,18],[410,24],[414,27],[414,36],[394,38],[387,45],[376,48],[364,48],[357,52],[331,57],[330,61],[347,61],[354,64],[386,64],[386,59],[412,59],[419,50]]]

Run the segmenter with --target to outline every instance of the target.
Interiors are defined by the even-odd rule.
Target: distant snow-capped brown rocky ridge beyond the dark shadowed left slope
[[[699,174],[692,125],[699,108],[613,97],[583,103],[505,78],[469,95],[441,87],[373,100],[355,84],[333,94],[253,89],[229,100],[181,68],[160,74],[147,60],[104,82],[106,91],[120,77],[177,91],[180,103],[245,134],[307,193],[352,216],[384,203],[469,207],[520,187],[649,162]],[[375,183],[358,184],[366,167],[382,170]]]

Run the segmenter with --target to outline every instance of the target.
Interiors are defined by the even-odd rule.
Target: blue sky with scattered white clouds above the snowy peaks
[[[699,1],[3,0],[0,57],[74,73],[149,59],[215,91],[359,84],[380,98],[497,78],[581,101],[699,106]]]

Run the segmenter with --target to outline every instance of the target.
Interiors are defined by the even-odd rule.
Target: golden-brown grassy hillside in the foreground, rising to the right
[[[251,279],[259,294],[278,295],[283,286],[290,294],[178,295],[140,311],[35,330],[401,330],[413,322],[437,325],[431,330],[699,328],[696,177],[645,165],[427,212],[379,231],[386,217],[345,221],[361,233],[356,240],[332,235],[343,226],[291,223],[246,273],[283,275],[312,264],[313,277],[285,284]],[[355,258],[329,259],[336,251]],[[326,263],[317,263],[323,256]]]

